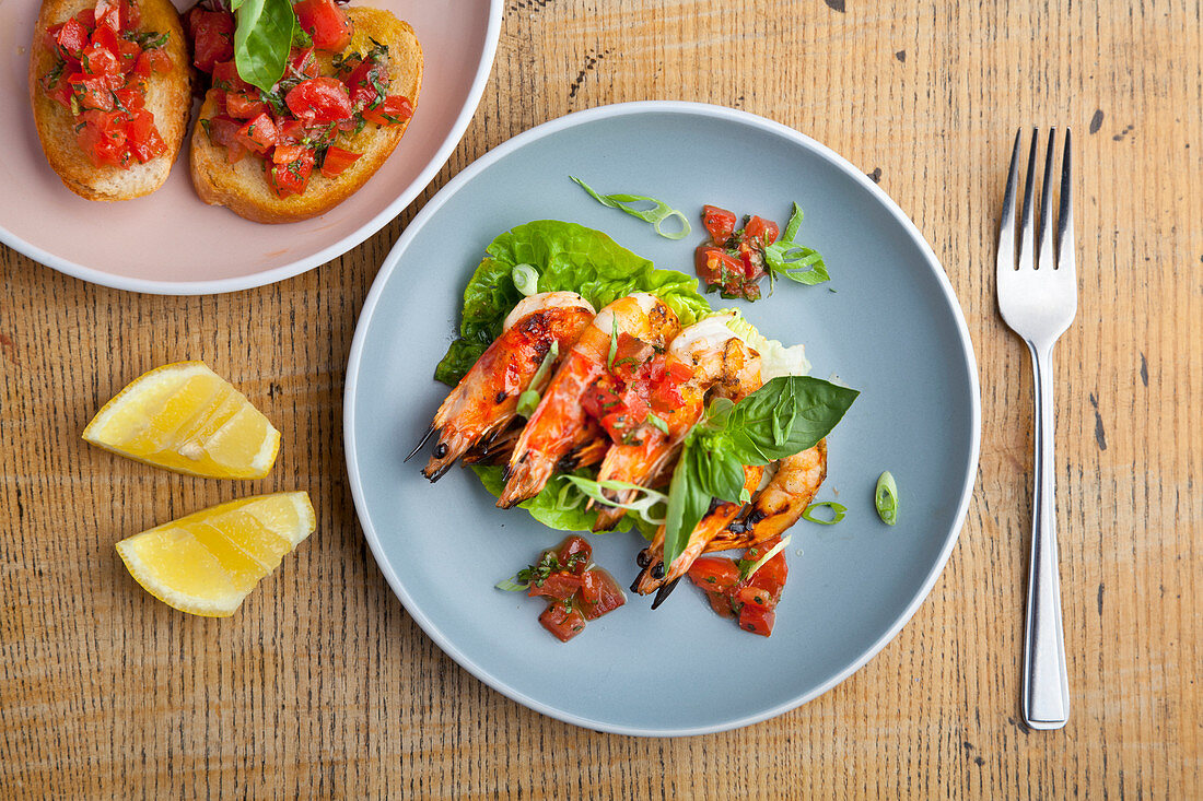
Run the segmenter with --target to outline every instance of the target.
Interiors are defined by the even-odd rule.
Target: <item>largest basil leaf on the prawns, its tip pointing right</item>
[[[743,464],[768,464],[813,447],[835,428],[859,394],[857,390],[810,375],[778,375],[735,404],[725,433],[736,456],[751,459]],[[784,440],[775,435],[775,420],[786,414],[778,405],[790,407],[788,411],[793,415]]]

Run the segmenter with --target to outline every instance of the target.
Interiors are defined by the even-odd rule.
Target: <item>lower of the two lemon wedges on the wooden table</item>
[[[230,617],[259,580],[316,528],[307,492],[211,506],[117,544],[125,569],[164,604]]]

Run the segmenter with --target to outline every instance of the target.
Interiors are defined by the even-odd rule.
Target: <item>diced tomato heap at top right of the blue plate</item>
[[[735,214],[717,206],[704,206],[701,221],[710,242],[698,245],[694,261],[706,291],[718,290],[724,298],[759,299],[764,249],[781,236],[777,224],[745,216],[743,227],[736,229]]]

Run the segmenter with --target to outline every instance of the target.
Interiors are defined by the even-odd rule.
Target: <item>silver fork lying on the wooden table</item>
[[[1023,129],[1015,134],[1011,174],[1002,200],[998,230],[998,310],[1032,354],[1036,394],[1036,476],[1032,493],[1032,556],[1027,574],[1027,616],[1024,624],[1024,720],[1032,729],[1060,729],[1069,719],[1069,676],[1065,665],[1061,589],[1056,559],[1056,467],[1053,459],[1053,344],[1078,310],[1078,272],[1073,257],[1073,182],[1069,130],[1061,159],[1061,203],[1056,255],[1049,212],[1053,207],[1053,162],[1056,129],[1049,130],[1039,204],[1039,251],[1033,250],[1032,188],[1036,143],[1032,131],[1019,218],[1019,259],[1015,259],[1015,183]]]

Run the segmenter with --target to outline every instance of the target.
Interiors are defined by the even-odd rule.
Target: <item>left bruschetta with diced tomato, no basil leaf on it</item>
[[[88,200],[149,195],[183,144],[191,76],[170,0],[46,0],[29,59],[46,160]]]

